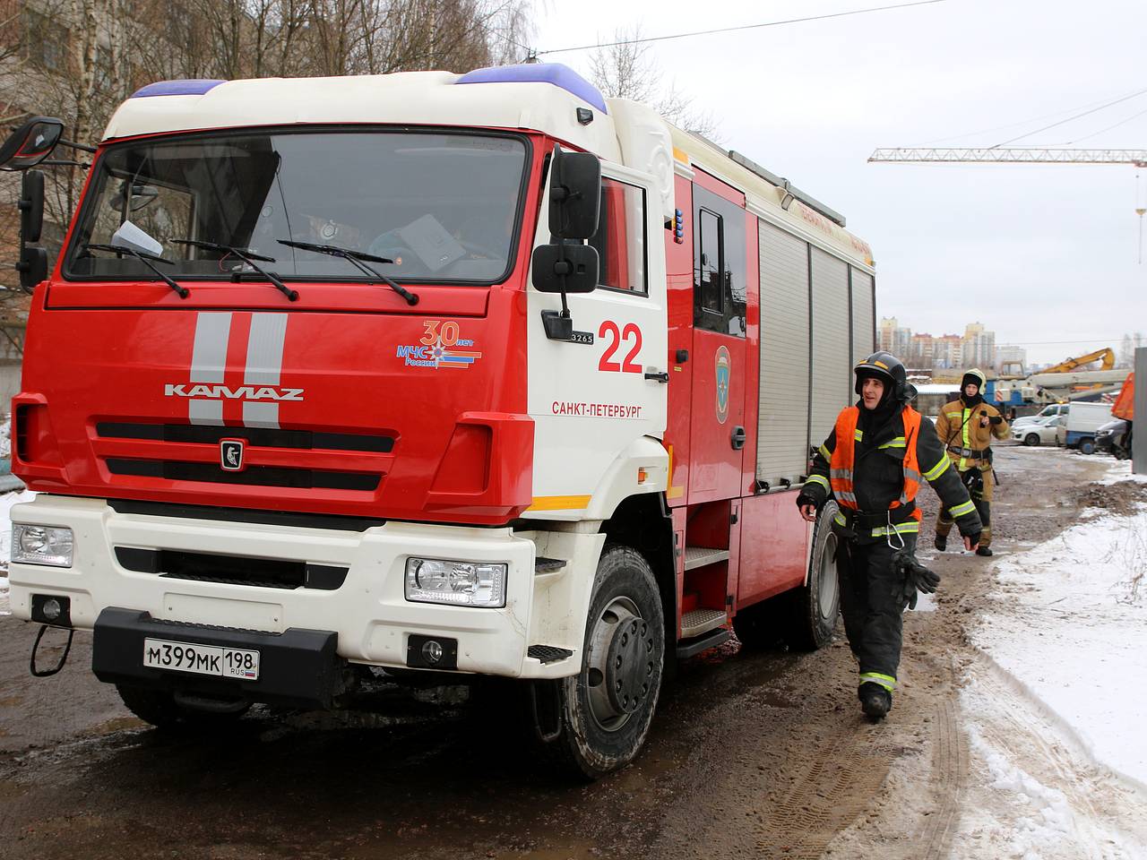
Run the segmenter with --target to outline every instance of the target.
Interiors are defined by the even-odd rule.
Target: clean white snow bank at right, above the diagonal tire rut
[[[1002,558],[998,613],[974,643],[1094,757],[1147,785],[1147,506]]]

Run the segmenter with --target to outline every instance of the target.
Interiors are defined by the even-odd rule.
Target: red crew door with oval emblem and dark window
[[[697,171],[693,187],[693,392],[688,503],[741,495],[748,251],[744,197]]]

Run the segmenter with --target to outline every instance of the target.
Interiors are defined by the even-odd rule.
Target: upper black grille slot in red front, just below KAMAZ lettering
[[[389,454],[395,437],[362,433],[322,433],[312,430],[275,430],[253,427],[209,427],[204,424],[143,424],[101,421],[99,436],[112,439],[150,439],[156,441],[218,445],[221,439],[245,439],[259,448],[301,448],[320,451],[367,451]]]

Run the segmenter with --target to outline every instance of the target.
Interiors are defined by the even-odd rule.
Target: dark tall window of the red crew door
[[[693,186],[693,325],[744,337],[748,259],[744,210]]]

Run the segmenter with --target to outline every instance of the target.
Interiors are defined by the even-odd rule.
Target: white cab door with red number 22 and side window
[[[561,308],[561,297],[532,286],[526,292],[535,421],[535,505],[526,516],[576,518],[607,471],[634,456],[634,444],[664,433],[669,368],[657,196],[643,173],[602,162],[601,174],[598,233],[588,240],[598,250],[598,289],[567,297],[572,341],[547,338],[541,322],[543,311]],[[545,194],[548,200],[548,182]],[[546,211],[536,244],[549,241]],[[640,451],[648,458],[647,447]],[[666,480],[668,469],[660,471],[657,479]]]

